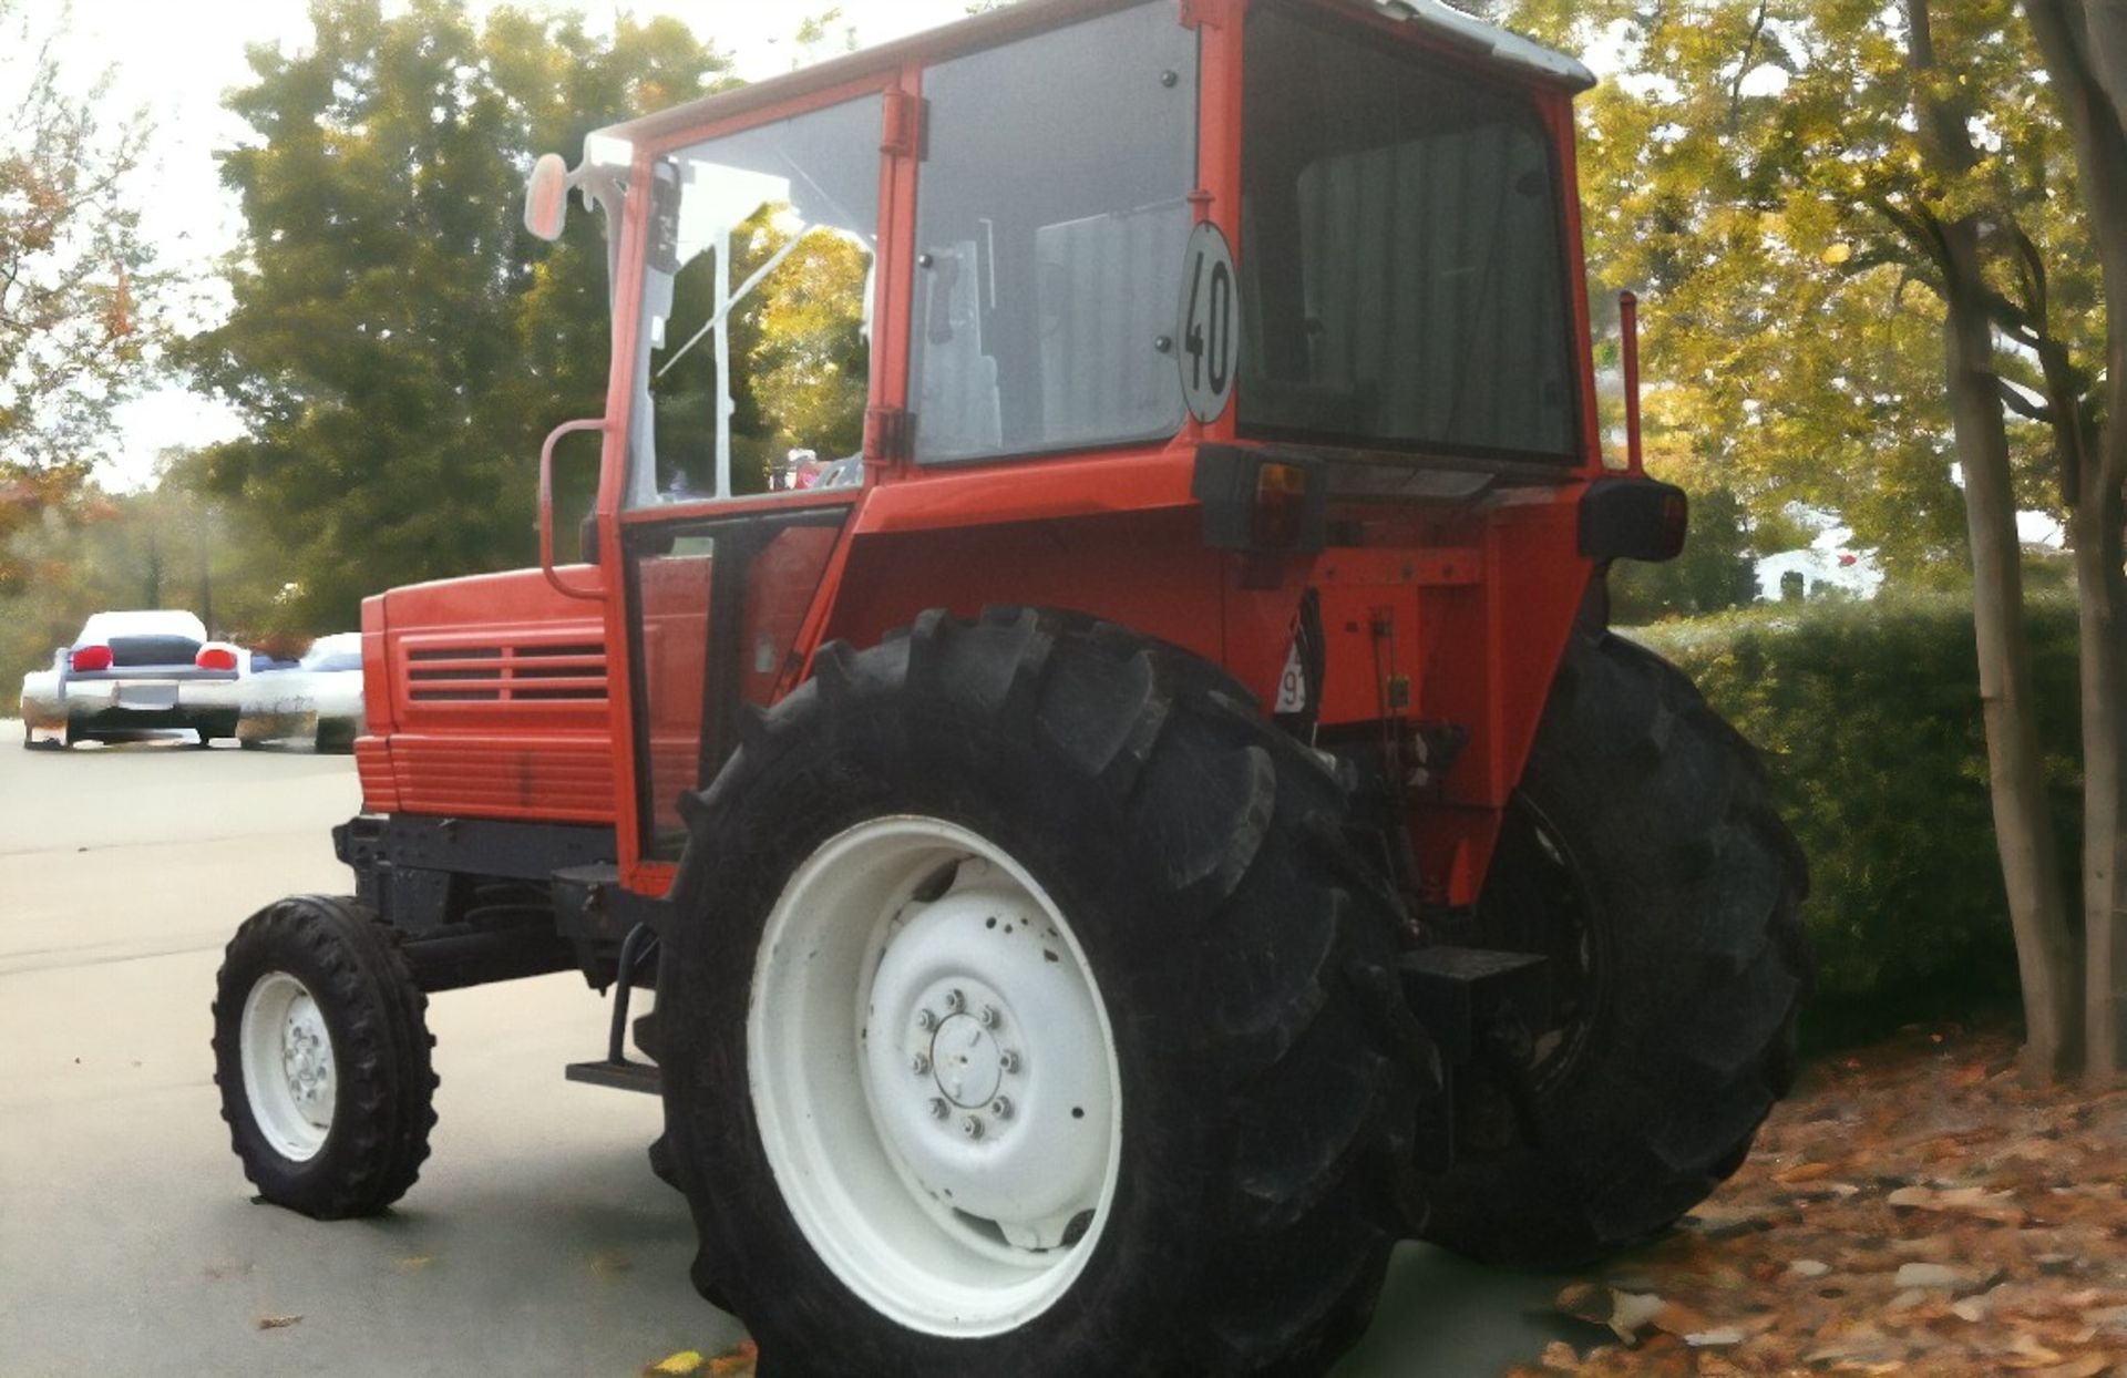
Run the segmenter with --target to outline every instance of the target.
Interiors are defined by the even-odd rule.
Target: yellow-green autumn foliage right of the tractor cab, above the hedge
[[[1840,512],[1895,583],[1961,564],[1940,228],[1991,225],[2008,338],[2050,332],[2089,364],[2087,387],[2104,336],[2072,151],[2010,0],[1925,4],[1950,74],[1927,83],[1904,4],[1476,9],[1606,57],[1606,81],[1580,100],[1589,268],[1606,296],[1642,293],[1648,451],[1716,474],[1759,517],[1797,500]],[[1938,96],[1982,149],[1955,174],[1914,115]],[[1997,362],[2029,404],[2036,355]],[[2010,440],[2019,502],[2057,512],[2050,432],[2012,419]]]

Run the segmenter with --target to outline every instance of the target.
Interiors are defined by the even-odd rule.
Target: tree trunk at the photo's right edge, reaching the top
[[[2089,1076],[2127,1068],[2127,0],[2029,0],[2106,287],[2106,425],[2078,436],[2076,589],[2082,651],[2082,951]],[[2055,410],[2061,400],[2055,400]]]

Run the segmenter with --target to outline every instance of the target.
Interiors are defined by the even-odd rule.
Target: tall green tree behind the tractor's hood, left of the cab
[[[179,481],[287,557],[281,617],[315,629],[391,585],[536,559],[540,438],[604,410],[606,247],[581,213],[534,240],[525,172],[702,94],[725,60],[674,19],[623,15],[602,40],[579,17],[476,23],[459,0],[311,13],[315,47],[253,49],[228,100],[257,136],[221,157],[247,236],[236,308],[189,362],[249,436]],[[587,483],[587,451],[557,468]]]

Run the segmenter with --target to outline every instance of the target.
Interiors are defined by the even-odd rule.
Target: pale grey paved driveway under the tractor
[[[328,829],[357,804],[347,757],[0,751],[6,1378],[627,1378],[738,1340],[687,1284],[691,1223],[642,1153],[655,1102],[562,1080],[604,1040],[576,976],[434,999],[440,1123],[391,1214],[251,1204],[206,1046],[221,944],[279,895],[347,891]],[[1406,1248],[1338,1378],[1529,1361],[1553,1289]]]

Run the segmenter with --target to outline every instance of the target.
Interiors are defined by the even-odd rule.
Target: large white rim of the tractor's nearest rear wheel
[[[900,1325],[1017,1329],[1100,1242],[1123,1144],[1100,987],[1046,891],[966,827],[872,819],[791,874],[747,1078],[798,1227]]]

